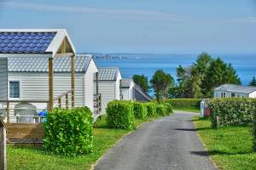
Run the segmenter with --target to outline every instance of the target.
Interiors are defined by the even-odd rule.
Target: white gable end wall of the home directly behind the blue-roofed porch
[[[94,96],[94,75],[97,72],[96,64],[91,60],[90,65],[84,75],[84,105],[88,106],[90,110],[94,111],[93,96]]]

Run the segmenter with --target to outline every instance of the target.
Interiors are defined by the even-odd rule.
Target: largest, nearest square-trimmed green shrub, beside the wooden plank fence
[[[44,122],[44,148],[52,153],[79,155],[92,151],[93,117],[89,108],[55,109]]]

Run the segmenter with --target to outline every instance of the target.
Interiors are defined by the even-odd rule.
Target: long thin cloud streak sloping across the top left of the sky
[[[185,17],[175,14],[166,14],[158,11],[149,10],[135,10],[135,9],[110,9],[110,8],[85,8],[85,7],[72,7],[63,5],[52,4],[38,4],[38,3],[17,3],[17,2],[0,2],[0,5],[4,5],[5,8],[26,8],[32,10],[47,10],[53,12],[65,12],[65,13],[84,13],[84,14],[102,14],[102,15],[115,15],[115,16],[133,16],[143,17],[148,19],[162,19],[172,20],[176,22],[183,22],[187,19]]]

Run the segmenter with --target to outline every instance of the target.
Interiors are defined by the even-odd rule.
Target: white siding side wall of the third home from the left
[[[102,94],[102,114],[106,113],[109,101],[117,99],[115,96],[115,81],[99,81],[99,94]],[[94,83],[96,94],[96,82]]]

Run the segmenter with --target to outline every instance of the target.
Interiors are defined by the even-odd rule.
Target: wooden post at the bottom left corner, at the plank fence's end
[[[6,127],[0,117],[0,169],[7,170],[6,161]]]

